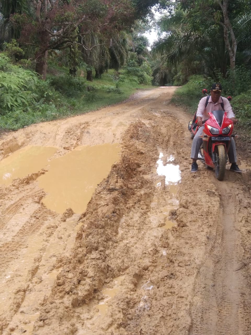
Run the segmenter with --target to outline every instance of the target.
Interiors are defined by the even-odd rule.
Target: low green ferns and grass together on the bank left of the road
[[[0,53],[0,129],[17,130],[32,123],[96,110],[145,87],[127,69],[119,73],[109,70],[92,83],[85,76],[69,75],[64,67],[51,71],[53,74],[47,80],[40,80],[35,72],[13,65]]]

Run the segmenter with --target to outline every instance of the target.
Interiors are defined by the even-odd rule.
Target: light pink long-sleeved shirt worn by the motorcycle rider
[[[208,113],[212,112],[212,111],[222,111],[222,107],[221,107],[221,102],[223,101],[224,103],[224,110],[225,112],[227,112],[227,116],[228,118],[234,118],[234,112],[232,111],[232,107],[228,101],[227,98],[225,98],[224,96],[220,96],[219,100],[217,101],[217,103],[215,104],[212,101],[212,97],[210,96],[210,98],[208,99],[208,104],[206,106],[205,109],[205,104],[206,104],[206,96],[204,96],[202,99],[200,99],[200,102],[198,104],[198,109],[197,109],[197,113],[196,113],[196,117],[200,116],[202,118],[202,121],[207,120],[209,118]]]

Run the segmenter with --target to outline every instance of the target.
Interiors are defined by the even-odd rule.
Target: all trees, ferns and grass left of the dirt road
[[[143,32],[156,3],[0,0],[0,128],[84,113],[150,84]]]

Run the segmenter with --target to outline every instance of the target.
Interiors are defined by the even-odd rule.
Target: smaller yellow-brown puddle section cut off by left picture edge
[[[23,178],[46,167],[55,147],[26,146],[0,162],[0,184],[9,185],[15,178]]]

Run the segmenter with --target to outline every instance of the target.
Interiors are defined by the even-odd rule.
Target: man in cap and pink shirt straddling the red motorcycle
[[[221,84],[213,84],[210,90],[211,96],[207,100],[207,97],[203,97],[200,99],[200,102],[198,104],[198,109],[196,112],[196,118],[197,118],[197,125],[200,126],[197,133],[194,136],[193,142],[192,142],[192,149],[191,149],[191,158],[192,158],[192,167],[191,172],[197,172],[198,171],[198,165],[196,163],[196,160],[198,158],[198,153],[200,146],[202,144],[202,138],[199,137],[199,135],[202,134],[203,129],[205,126],[203,125],[203,121],[207,120],[209,118],[208,113],[212,111],[225,111],[227,112],[227,117],[233,121],[233,123],[237,123],[237,120],[235,119],[235,115],[232,111],[231,105],[227,98],[221,96],[222,92],[222,85]],[[206,101],[208,101],[206,106]],[[222,107],[224,106],[224,108]],[[230,167],[230,171],[239,172],[241,173],[241,170],[239,169],[237,162],[237,156],[236,156],[236,148],[235,148],[235,141],[233,138],[231,138],[231,145],[228,151],[228,158],[229,162],[232,163]]]

